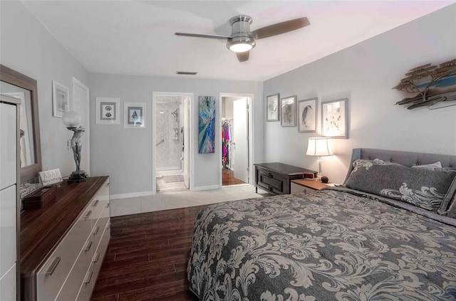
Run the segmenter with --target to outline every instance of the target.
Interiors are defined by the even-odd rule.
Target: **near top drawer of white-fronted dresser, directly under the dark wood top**
[[[88,216],[90,208],[76,221],[63,241],[58,245],[41,270],[36,275],[38,300],[54,300],[63,282],[70,273],[73,263],[78,258],[84,243],[90,236],[91,221]]]

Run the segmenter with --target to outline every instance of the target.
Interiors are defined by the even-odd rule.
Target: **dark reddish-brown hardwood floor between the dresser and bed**
[[[111,241],[92,301],[190,301],[193,222],[207,206],[111,218]]]

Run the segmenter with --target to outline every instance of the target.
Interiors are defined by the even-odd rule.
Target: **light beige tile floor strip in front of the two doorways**
[[[125,216],[136,213],[201,206],[223,201],[260,198],[269,195],[261,189],[258,189],[258,192],[258,194],[255,194],[255,187],[249,184],[206,191],[158,191],[155,196],[111,200],[111,216]]]

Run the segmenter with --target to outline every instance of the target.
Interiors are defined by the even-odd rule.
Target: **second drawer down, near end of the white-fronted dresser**
[[[83,282],[84,276],[90,267],[92,260],[92,251],[95,247],[96,245],[93,243],[93,238],[89,237],[83,249],[79,253],[78,259],[73,265],[73,269],[63,284],[63,287],[59,292],[56,300],[76,300],[76,296],[78,295],[78,291],[81,287],[81,282]]]

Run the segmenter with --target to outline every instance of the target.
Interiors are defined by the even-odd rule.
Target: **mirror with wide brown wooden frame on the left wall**
[[[41,142],[36,80],[0,65],[0,94],[21,100],[21,183],[33,182],[41,171]]]

